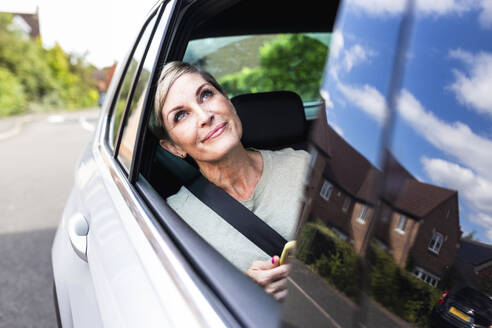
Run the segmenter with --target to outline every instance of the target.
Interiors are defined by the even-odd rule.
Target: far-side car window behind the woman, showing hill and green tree
[[[314,119],[330,33],[281,33],[204,38],[188,43],[183,60],[216,77],[230,97],[294,91]]]

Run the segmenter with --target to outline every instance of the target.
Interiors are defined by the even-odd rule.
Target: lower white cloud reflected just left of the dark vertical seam
[[[378,123],[382,124],[386,119],[386,99],[373,86],[350,86],[341,82],[337,83],[338,90],[345,98],[369,114]]]

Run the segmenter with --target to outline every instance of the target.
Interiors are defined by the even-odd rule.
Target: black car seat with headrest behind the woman
[[[307,120],[299,95],[276,91],[239,95],[231,99],[243,125],[246,148],[306,149]],[[149,180],[165,199],[200,175],[193,159],[181,159],[157,146]],[[170,183],[169,177],[173,177]]]

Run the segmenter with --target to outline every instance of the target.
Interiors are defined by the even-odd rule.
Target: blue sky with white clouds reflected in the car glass
[[[332,126],[379,166],[399,0],[351,0],[324,90]],[[416,1],[391,151],[422,182],[458,191],[464,234],[492,243],[492,0]]]

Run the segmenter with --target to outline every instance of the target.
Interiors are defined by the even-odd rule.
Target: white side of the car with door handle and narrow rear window
[[[63,326],[194,327],[207,310],[207,306],[197,310],[194,305],[203,296],[183,292],[194,291],[183,287],[184,278],[176,281],[180,273],[175,250],[159,246],[161,252],[169,253],[166,265],[157,256],[153,243],[159,233],[149,222],[145,222],[147,230],[139,225],[147,216],[128,182],[140,109],[175,6],[176,1],[162,2],[145,22],[115,75],[94,142],[76,168],[60,233],[70,237],[72,257],[80,257],[81,282],[88,285],[76,283],[77,288],[69,289],[70,310],[61,311]],[[66,300],[60,295],[58,299]]]

